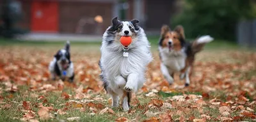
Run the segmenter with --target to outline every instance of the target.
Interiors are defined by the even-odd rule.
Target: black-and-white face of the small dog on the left
[[[54,57],[56,58],[57,63],[61,65],[61,69],[68,69],[70,64],[70,53],[68,50],[61,49],[54,55]]]

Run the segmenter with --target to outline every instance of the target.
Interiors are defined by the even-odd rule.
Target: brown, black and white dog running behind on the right
[[[171,30],[168,25],[163,25],[159,38],[160,67],[170,85],[173,83],[173,74],[180,72],[180,79],[185,78],[185,86],[189,86],[195,55],[212,40],[213,38],[207,35],[200,36],[193,42],[187,42],[181,25],[174,30]]]

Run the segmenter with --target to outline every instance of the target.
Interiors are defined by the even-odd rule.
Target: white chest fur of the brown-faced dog
[[[184,69],[187,57],[184,50],[169,52],[168,48],[159,48],[159,51],[161,52],[160,55],[163,64],[169,69],[175,72],[179,72],[180,70]]]

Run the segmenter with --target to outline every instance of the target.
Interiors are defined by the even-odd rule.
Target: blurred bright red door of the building
[[[58,2],[33,1],[31,30],[33,32],[58,32]]]

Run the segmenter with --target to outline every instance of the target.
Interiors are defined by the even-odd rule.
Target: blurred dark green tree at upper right
[[[210,34],[234,40],[240,20],[256,18],[252,0],[184,0],[184,10],[173,17],[172,25],[183,25],[186,37]]]

